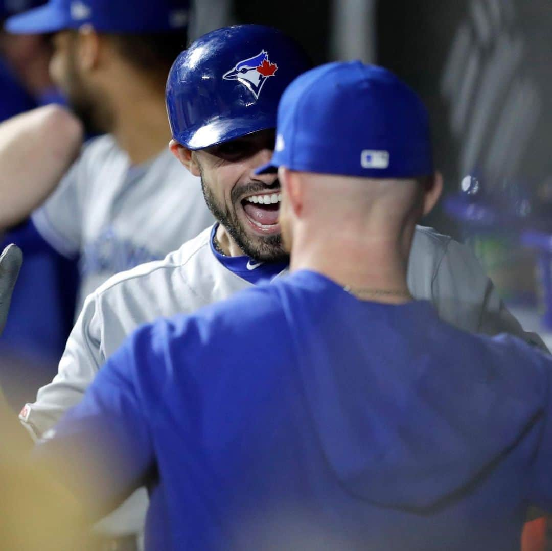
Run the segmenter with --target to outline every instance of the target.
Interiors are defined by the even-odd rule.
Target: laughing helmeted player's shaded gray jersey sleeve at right
[[[509,333],[548,352],[536,333],[529,333],[508,311],[474,253],[450,240],[432,280],[432,301],[439,317],[473,333]]]

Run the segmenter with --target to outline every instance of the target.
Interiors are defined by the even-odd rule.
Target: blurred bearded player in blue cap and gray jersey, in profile
[[[9,239],[23,248],[28,262],[37,241],[78,258],[77,310],[114,273],[163,258],[212,221],[199,181],[186,176],[167,150],[164,84],[186,42],[187,18],[185,0],[143,0],[131,10],[127,2],[97,0],[49,2],[6,22],[8,40],[53,34],[52,78],[87,133],[108,133],[85,145],[73,165],[67,163],[65,177],[39,209],[19,212],[18,220],[0,219],[4,228],[22,222]],[[26,130],[22,123],[22,133]],[[10,133],[18,139],[13,125]],[[54,141],[41,145],[52,156]],[[34,154],[30,146],[20,151],[25,162],[32,163]],[[20,193],[14,178],[6,211],[15,210],[12,203]],[[40,174],[32,183],[28,190],[35,198],[50,189]],[[74,296],[68,283],[67,278],[52,296],[59,301]],[[50,310],[45,312],[36,317],[50,327]],[[55,363],[61,350],[58,345]],[[49,379],[51,374],[41,384]]]

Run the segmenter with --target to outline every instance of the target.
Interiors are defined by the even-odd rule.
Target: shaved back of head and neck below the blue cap
[[[433,208],[442,179],[371,179],[280,167],[280,229],[291,269],[337,281],[407,291],[416,224]],[[360,265],[362,264],[362,268]]]

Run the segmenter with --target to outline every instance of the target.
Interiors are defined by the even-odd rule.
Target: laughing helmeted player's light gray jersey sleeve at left
[[[34,438],[40,438],[82,400],[104,362],[100,352],[101,331],[97,295],[92,294],[67,340],[56,377],[38,391],[34,404],[26,404],[19,414]]]

